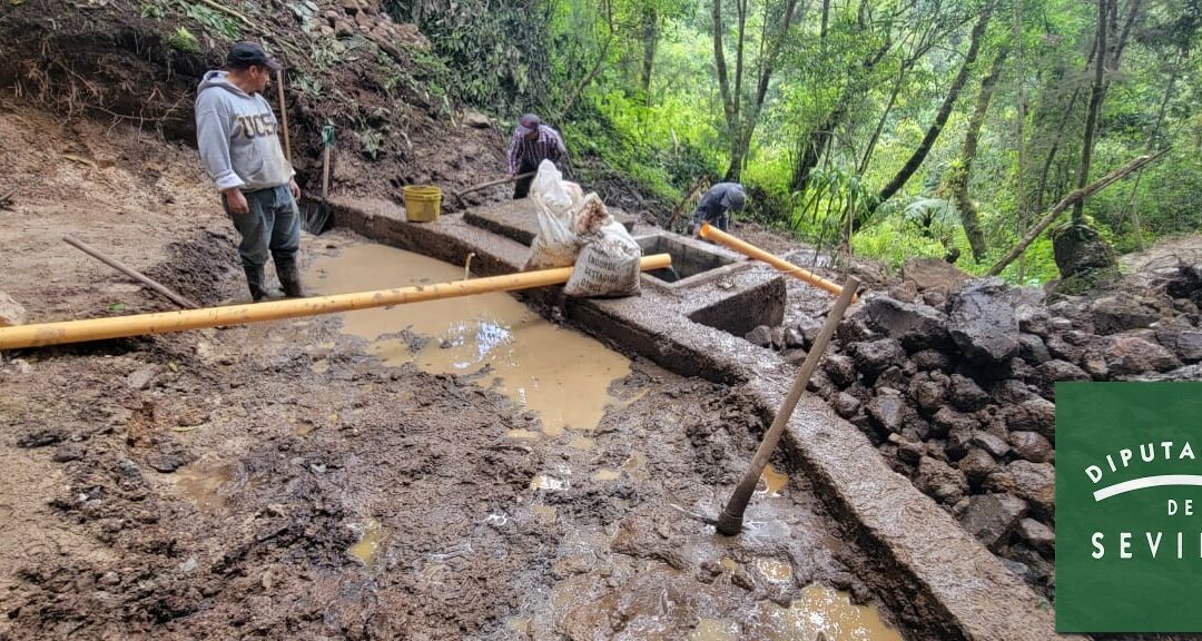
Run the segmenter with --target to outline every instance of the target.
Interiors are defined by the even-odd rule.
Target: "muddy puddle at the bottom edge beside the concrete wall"
[[[828,641],[903,641],[885,625],[875,607],[851,605],[849,595],[811,584],[791,607],[758,604],[746,627],[748,639],[813,641],[819,633]]]

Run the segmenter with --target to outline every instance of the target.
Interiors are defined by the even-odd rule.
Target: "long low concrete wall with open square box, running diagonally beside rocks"
[[[411,224],[387,201],[333,200],[337,225],[375,242],[496,275],[525,263],[534,203],[477,207]],[[685,376],[739,387],[770,422],[796,374],[742,337],[779,325],[784,277],[720,247],[619,218],[644,253],[667,251],[674,273],[643,274],[639,297],[569,299],[567,320],[624,351]],[[531,292],[536,307],[558,289]],[[933,500],[895,474],[859,429],[814,394],[802,398],[781,445],[790,473],[805,474],[822,501],[868,551],[862,575],[887,577],[881,598],[918,639],[1036,641],[1058,636],[1049,605]],[[702,527],[698,524],[698,527]]]

